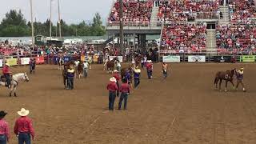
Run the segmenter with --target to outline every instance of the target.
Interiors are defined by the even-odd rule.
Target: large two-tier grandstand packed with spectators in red
[[[119,34],[118,0],[106,25],[109,37]],[[256,43],[253,0],[124,0],[125,39],[146,49],[146,34],[159,34],[160,57],[166,54],[253,51]]]

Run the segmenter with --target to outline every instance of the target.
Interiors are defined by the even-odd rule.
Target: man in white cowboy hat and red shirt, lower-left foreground
[[[29,110],[24,108],[18,111],[18,115],[21,117],[17,119],[14,126],[14,134],[18,135],[18,144],[30,144],[30,135],[34,140],[34,128],[32,126],[32,120],[27,117],[30,114]]]

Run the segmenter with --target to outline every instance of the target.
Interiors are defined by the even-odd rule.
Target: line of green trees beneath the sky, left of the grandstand
[[[93,23],[82,21],[78,24],[68,25],[61,20],[62,36],[102,36],[106,34],[105,26],[102,26],[102,18],[96,13]],[[59,35],[58,26],[54,26],[50,19],[46,22],[34,22],[34,35],[50,36]],[[21,10],[10,10],[0,24],[0,37],[25,37],[31,35],[31,22],[26,22]]]

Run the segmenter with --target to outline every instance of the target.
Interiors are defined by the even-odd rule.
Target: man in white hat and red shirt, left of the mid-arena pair
[[[112,77],[110,78],[110,83],[106,86],[106,89],[109,90],[109,110],[114,110],[114,100],[118,90],[116,82],[117,80]]]

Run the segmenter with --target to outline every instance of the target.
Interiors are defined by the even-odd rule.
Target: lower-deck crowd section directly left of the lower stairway
[[[162,50],[194,52],[206,49],[206,25],[173,23],[162,30]]]

